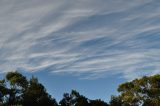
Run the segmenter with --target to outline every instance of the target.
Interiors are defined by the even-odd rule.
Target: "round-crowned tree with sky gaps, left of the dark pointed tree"
[[[19,104],[22,102],[22,94],[27,88],[28,82],[26,77],[18,72],[9,72],[6,75],[6,81],[9,82],[8,88],[8,105]]]

